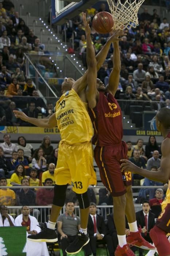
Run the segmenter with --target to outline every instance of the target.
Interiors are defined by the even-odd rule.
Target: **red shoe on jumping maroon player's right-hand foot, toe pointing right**
[[[144,240],[141,236],[141,229],[138,232],[130,232],[126,238],[128,244],[133,244],[133,246],[137,246],[144,250],[154,250],[155,247],[152,246],[149,242]]]

